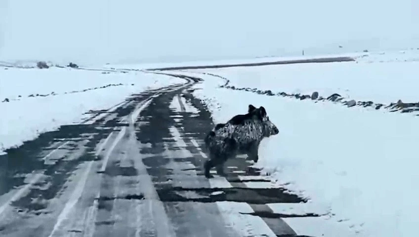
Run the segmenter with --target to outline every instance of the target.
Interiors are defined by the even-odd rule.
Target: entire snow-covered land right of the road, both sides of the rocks
[[[273,91],[275,87],[310,94],[317,90],[329,96],[339,93],[335,91],[339,88],[350,88],[347,93],[351,97],[418,101],[414,94],[417,83],[413,79],[418,72],[415,64],[300,64],[203,69],[190,74],[214,73],[231,79],[235,85]],[[217,88],[224,84],[223,79],[201,76],[206,81],[196,86],[194,94],[209,105],[214,122],[246,113],[248,104],[267,109],[280,133],[262,142],[256,166],[263,167],[288,190],[310,198],[311,205],[330,211],[320,219],[286,218],[297,234],[416,235],[418,117]]]

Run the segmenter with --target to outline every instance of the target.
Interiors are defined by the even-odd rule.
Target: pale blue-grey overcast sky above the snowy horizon
[[[339,44],[419,47],[418,0],[0,0],[0,8],[2,60],[182,61],[327,52]]]

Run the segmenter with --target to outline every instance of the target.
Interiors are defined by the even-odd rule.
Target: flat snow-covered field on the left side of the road
[[[109,109],[132,93],[182,82],[142,72],[0,68],[0,152],[81,121],[89,110]]]

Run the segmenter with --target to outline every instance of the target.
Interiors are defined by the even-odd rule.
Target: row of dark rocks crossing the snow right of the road
[[[389,105],[384,105],[380,103],[374,103],[373,101],[356,101],[356,100],[345,100],[344,97],[335,93],[328,97],[322,97],[319,95],[319,92],[315,91],[310,95],[302,95],[302,94],[288,94],[286,92],[278,92],[274,93],[271,90],[260,90],[257,88],[250,88],[250,87],[235,87],[234,85],[228,85],[229,81],[226,82],[224,85],[220,85],[220,88],[227,88],[232,90],[245,90],[253,93],[257,93],[260,95],[267,95],[267,96],[282,96],[282,97],[292,97],[299,100],[311,99],[314,100],[315,103],[318,101],[331,101],[334,103],[340,103],[348,108],[354,106],[362,106],[362,107],[374,107],[376,110],[381,108],[389,110],[389,112],[400,112],[400,113],[411,113],[411,112],[419,112],[419,102],[417,103],[404,103],[401,100],[398,100],[396,103],[390,103]],[[417,115],[419,116],[419,114]]]

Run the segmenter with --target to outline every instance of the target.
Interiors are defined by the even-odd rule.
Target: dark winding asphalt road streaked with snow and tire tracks
[[[227,178],[204,177],[213,124],[189,93],[198,79],[185,79],[6,151],[0,236],[296,236],[266,203],[304,200],[268,187],[251,161],[228,161]]]

